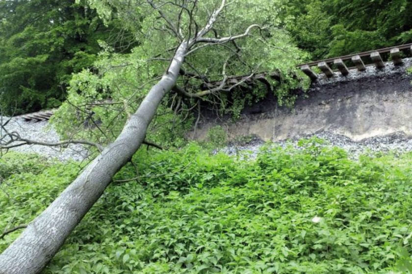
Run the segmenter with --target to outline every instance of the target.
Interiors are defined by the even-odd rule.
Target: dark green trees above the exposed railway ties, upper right
[[[410,0],[286,0],[283,16],[312,59],[412,42]]]

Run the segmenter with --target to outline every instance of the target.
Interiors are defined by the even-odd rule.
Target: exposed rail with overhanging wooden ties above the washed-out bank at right
[[[373,65],[376,69],[385,68],[385,62],[382,57],[382,54],[386,55],[388,58],[390,57],[391,61],[393,62],[393,65],[402,65],[402,51],[409,55],[412,54],[412,43],[400,46],[386,47],[377,50],[365,51],[357,54],[350,54],[336,58],[329,58],[307,64],[301,64],[298,65],[298,67],[300,67],[300,69],[306,75],[308,75],[312,81],[316,81],[319,75],[314,70],[312,70],[311,67],[316,67],[318,70],[323,72],[328,78],[335,77],[335,71],[340,71],[340,74],[342,76],[347,76],[350,74],[350,69],[354,68],[358,69],[358,71],[364,71],[366,70],[367,66]],[[354,67],[348,68],[348,64],[353,65]]]

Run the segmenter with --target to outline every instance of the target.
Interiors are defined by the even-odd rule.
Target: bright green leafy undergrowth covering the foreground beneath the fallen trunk
[[[141,150],[115,180],[139,178],[112,183],[43,274],[410,273],[412,154],[354,161],[301,145],[256,160],[195,144]],[[0,160],[1,231],[34,218],[78,171],[39,162]]]

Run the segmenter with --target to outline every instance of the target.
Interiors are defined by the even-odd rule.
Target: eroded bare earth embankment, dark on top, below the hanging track
[[[323,76],[312,84],[307,98],[298,98],[292,110],[279,107],[276,99],[268,96],[247,108],[235,123],[229,118],[204,119],[191,137],[204,139],[208,130],[219,124],[229,139],[256,135],[264,141],[282,141],[324,135],[339,139],[338,145],[361,140],[376,143],[386,136],[388,144],[396,143],[398,137],[406,143],[412,137],[412,77],[406,71],[411,63],[406,59],[398,67],[386,63],[381,70],[351,70],[348,77],[337,72],[332,79]]]

